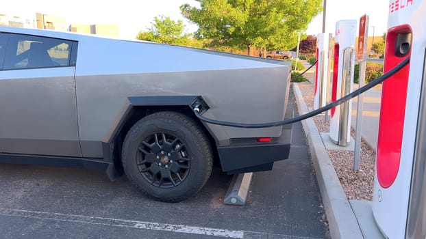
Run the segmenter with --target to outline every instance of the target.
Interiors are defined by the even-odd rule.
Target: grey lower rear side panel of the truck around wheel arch
[[[248,74],[259,80],[248,83]],[[103,76],[77,75],[79,135],[82,140],[83,154],[86,155],[85,141],[110,141],[112,130],[109,129],[116,128],[122,112],[129,107],[127,96],[201,95],[212,107],[205,113],[207,117],[246,123],[284,119],[286,102],[282,99],[283,92],[276,91],[274,87],[285,89],[285,81],[284,83],[282,80],[270,81],[264,85],[262,79],[265,75],[272,75],[277,79],[279,71],[246,69]],[[233,83],[227,83],[229,81]],[[98,88],[96,94],[92,93],[94,88]],[[104,100],[98,102],[97,99]],[[208,127],[216,135],[219,145],[229,145],[230,138],[264,137],[265,135],[279,137],[281,135],[281,126],[249,130],[214,125]]]

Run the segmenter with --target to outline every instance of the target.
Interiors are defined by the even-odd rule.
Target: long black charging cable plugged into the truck
[[[320,109],[316,109],[314,111],[311,111],[309,113],[305,113],[304,115],[299,115],[297,117],[291,118],[291,119],[284,119],[277,122],[268,122],[268,123],[258,123],[258,124],[245,124],[245,123],[235,123],[235,122],[225,122],[220,121],[216,119],[209,119],[207,117],[204,117],[200,114],[200,109],[198,107],[194,108],[195,115],[199,119],[201,119],[203,122],[207,122],[210,124],[218,124],[221,126],[230,126],[230,127],[236,127],[236,128],[269,128],[269,127],[275,127],[275,126],[282,126],[284,124],[292,124],[295,122],[299,122],[303,119],[308,119],[309,117],[318,115],[320,113],[323,113],[324,111],[328,111],[329,109],[338,106],[339,104],[342,104],[344,102],[347,102],[351,98],[354,98],[355,96],[358,96],[364,92],[366,92],[368,89],[371,89],[375,85],[384,82],[386,79],[388,79],[393,74],[397,73],[399,70],[401,70],[404,66],[407,66],[410,62],[410,57],[405,58],[401,63],[399,63],[397,66],[380,76],[379,78],[375,79],[374,81],[371,81],[371,83],[368,83],[367,85],[364,85],[363,87],[360,87],[359,89],[351,92],[350,94],[331,102],[330,104],[327,104],[325,107],[321,107]]]

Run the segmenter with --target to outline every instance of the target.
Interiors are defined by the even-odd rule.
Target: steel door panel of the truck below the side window
[[[74,67],[0,72],[0,152],[82,156]]]

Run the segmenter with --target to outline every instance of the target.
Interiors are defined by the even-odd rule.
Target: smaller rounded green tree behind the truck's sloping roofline
[[[185,32],[182,20],[171,20],[168,16],[155,16],[148,31],[140,31],[136,39],[149,42],[160,42],[179,46],[188,46],[193,42],[190,33]]]

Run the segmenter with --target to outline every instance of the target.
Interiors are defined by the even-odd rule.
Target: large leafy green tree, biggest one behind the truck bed
[[[288,50],[297,32],[322,10],[322,0],[197,0],[200,8],[181,5],[181,13],[199,26],[195,36],[209,46]]]

